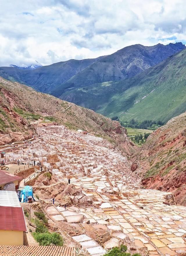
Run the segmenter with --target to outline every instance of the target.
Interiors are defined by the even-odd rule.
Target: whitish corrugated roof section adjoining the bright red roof
[[[0,190],[0,206],[21,207],[17,193]]]

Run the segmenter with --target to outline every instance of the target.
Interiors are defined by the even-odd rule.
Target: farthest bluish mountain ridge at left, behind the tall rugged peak
[[[0,76],[10,81],[24,83],[37,91],[49,93],[56,86],[64,83],[102,57],[61,61],[52,65],[39,67],[35,70],[23,70],[17,67],[0,67]]]

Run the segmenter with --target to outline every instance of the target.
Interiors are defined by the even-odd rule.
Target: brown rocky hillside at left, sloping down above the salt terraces
[[[43,122],[58,122],[69,129],[95,133],[128,155],[135,149],[119,122],[1,77],[0,107],[0,145],[31,138],[35,133],[31,123],[43,118]]]

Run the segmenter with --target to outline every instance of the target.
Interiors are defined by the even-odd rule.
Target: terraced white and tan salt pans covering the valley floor
[[[50,231],[62,234],[65,245],[93,256],[121,243],[141,255],[186,252],[186,207],[169,192],[140,189],[130,162],[112,144],[51,124],[38,125],[37,133],[41,137],[6,157],[39,160],[52,169],[51,179],[42,174],[33,180],[39,202],[32,207],[46,213]]]

